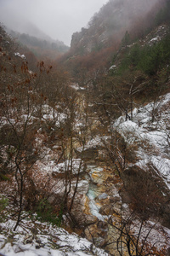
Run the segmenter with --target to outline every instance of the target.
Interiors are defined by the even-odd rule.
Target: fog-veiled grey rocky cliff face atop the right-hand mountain
[[[88,28],[72,35],[71,51],[85,55],[112,45],[120,45],[125,32],[141,37],[152,26],[165,0],[110,0],[89,21]],[[152,21],[151,21],[152,20]]]

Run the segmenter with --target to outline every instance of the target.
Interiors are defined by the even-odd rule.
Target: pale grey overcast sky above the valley
[[[0,21],[20,32],[26,20],[54,39],[71,43],[73,32],[88,21],[109,0],[0,0]],[[23,30],[23,31],[22,31]]]

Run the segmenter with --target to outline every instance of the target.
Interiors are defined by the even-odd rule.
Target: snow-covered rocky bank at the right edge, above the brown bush
[[[144,108],[133,110],[133,121],[125,121],[121,116],[113,125],[127,143],[138,143],[136,152],[139,161],[136,165],[146,169],[152,164],[159,175],[170,188],[170,159],[169,159],[169,120],[170,120],[170,93],[161,96],[157,102],[151,102]],[[151,122],[152,113],[156,109],[155,120]]]

